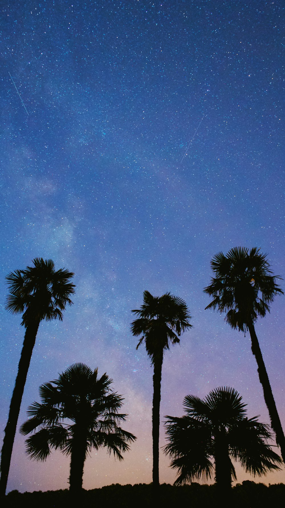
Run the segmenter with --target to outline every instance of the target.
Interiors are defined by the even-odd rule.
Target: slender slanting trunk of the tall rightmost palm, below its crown
[[[259,347],[258,338],[257,338],[257,335],[255,333],[255,328],[254,328],[253,323],[248,323],[247,327],[248,327],[248,330],[250,331],[250,334],[251,334],[252,352],[253,352],[253,354],[254,354],[254,356],[256,358],[256,361],[257,361],[258,376],[259,376],[259,380],[260,380],[260,383],[261,383],[262,388],[263,388],[264,400],[265,400],[265,403],[266,403],[267,408],[268,408],[268,412],[269,412],[269,416],[270,416],[270,421],[271,421],[271,427],[272,427],[273,431],[275,432],[276,442],[277,442],[277,444],[280,447],[281,456],[282,456],[283,462],[285,463],[285,437],[284,437],[284,432],[283,432],[283,429],[282,429],[282,425],[281,425],[280,418],[279,418],[279,415],[278,415],[278,411],[277,411],[277,408],[276,408],[275,400],[274,400],[273,393],[272,393],[272,390],[271,390],[271,386],[270,386],[270,383],[269,383],[268,374],[267,374],[267,371],[266,371],[266,368],[265,368],[265,364],[264,364],[264,361],[263,361],[263,358],[262,358],[262,354],[261,354],[261,350],[260,350],[260,347]]]

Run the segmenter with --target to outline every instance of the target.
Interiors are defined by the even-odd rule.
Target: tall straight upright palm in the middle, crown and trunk
[[[180,342],[182,332],[191,328],[188,312],[184,300],[166,293],[160,297],[152,296],[144,291],[144,304],[139,310],[132,310],[138,319],[132,322],[131,331],[135,337],[141,335],[136,346],[145,341],[147,353],[154,367],[153,375],[153,485],[159,485],[159,407],[161,368],[163,353],[169,349],[169,342]]]

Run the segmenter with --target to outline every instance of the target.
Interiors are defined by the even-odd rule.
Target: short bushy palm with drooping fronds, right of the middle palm
[[[233,388],[217,388],[204,400],[193,395],[184,399],[186,415],[166,416],[171,467],[179,471],[174,485],[197,479],[210,479],[214,470],[220,495],[228,496],[232,479],[236,480],[231,459],[239,460],[246,472],[261,476],[279,469],[281,458],[266,440],[271,439],[269,426],[246,418],[246,404]]]

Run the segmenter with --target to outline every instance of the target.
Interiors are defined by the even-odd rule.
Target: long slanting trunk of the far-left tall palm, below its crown
[[[18,366],[18,374],[16,377],[15,387],[13,390],[13,395],[10,403],[9,417],[5,428],[5,437],[3,440],[3,447],[1,452],[0,499],[3,499],[6,494],[8,474],[10,469],[10,462],[20,412],[20,406],[26,383],[31,354],[35,343],[35,337],[37,336],[39,325],[40,320],[37,320],[35,323],[31,323],[30,325],[28,325],[25,332],[21,358]]]

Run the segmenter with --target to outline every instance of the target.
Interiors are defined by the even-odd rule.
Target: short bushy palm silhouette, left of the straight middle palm
[[[70,455],[69,491],[82,490],[84,462],[92,448],[106,447],[109,454],[123,459],[133,434],[118,426],[127,415],[119,414],[123,398],[110,388],[113,379],[100,378],[82,363],[68,367],[58,379],[40,387],[42,403],[28,407],[27,420],[20,432],[27,435],[26,452],[34,460],[44,461],[51,449]]]

